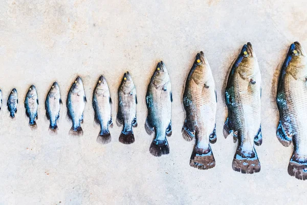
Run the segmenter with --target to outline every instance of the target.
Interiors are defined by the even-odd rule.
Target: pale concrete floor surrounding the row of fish
[[[306,1],[60,1],[6,0],[0,3],[0,204],[299,204],[306,182],[287,173],[291,147],[275,131],[276,79],[288,47],[298,40],[307,49]],[[250,41],[262,75],[262,134],[257,147],[261,171],[231,168],[236,145],[224,139],[226,76],[243,44]],[[216,167],[189,166],[194,142],[182,138],[183,85],[197,52],[203,50],[216,84]],[[173,89],[170,154],[149,153],[153,136],[144,130],[145,94],[151,74],[164,60]],[[124,71],[138,93],[138,123],[133,145],[96,142],[92,92],[100,74],[108,80],[117,113],[117,89]],[[71,124],[63,105],[57,136],[48,132],[44,101],[57,80],[63,101],[77,75],[89,103],[84,135],[68,136]],[[35,84],[40,100],[38,129],[25,117],[24,99]],[[6,100],[18,91],[16,119]]]

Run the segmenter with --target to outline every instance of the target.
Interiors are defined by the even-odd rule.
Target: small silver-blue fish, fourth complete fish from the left
[[[66,100],[67,116],[73,122],[73,126],[69,131],[70,135],[83,135],[81,122],[83,122],[83,111],[86,101],[82,79],[78,76],[71,86]]]

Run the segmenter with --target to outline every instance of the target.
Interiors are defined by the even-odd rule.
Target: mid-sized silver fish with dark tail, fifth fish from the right
[[[122,144],[132,144],[135,141],[132,127],[137,127],[137,90],[129,72],[123,76],[118,88],[118,112],[116,123],[123,130],[120,133],[119,141]]]

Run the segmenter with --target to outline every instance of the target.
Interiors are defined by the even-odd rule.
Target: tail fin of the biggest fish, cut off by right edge
[[[307,156],[301,156],[295,151],[290,159],[288,173],[300,180],[307,179]]]

